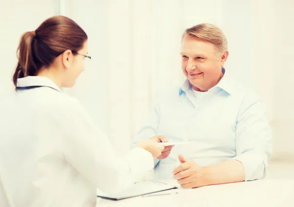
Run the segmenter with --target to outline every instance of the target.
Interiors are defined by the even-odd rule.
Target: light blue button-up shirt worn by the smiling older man
[[[175,145],[168,158],[155,160],[154,178],[172,178],[179,153],[200,166],[235,159],[244,166],[245,181],[264,178],[272,151],[265,106],[234,80],[226,73],[207,92],[194,91],[186,80],[158,97],[135,142],[165,135],[170,142],[193,143]]]

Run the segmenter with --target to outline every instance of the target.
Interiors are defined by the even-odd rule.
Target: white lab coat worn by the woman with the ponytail
[[[0,101],[0,177],[15,207],[94,207],[97,187],[116,193],[153,168],[142,148],[116,157],[78,101],[48,78],[18,86]]]

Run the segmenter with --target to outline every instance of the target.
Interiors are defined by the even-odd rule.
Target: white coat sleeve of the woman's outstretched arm
[[[109,140],[75,99],[64,117],[65,159],[100,190],[118,193],[152,170],[152,155],[143,148],[135,147],[125,157],[116,157]]]

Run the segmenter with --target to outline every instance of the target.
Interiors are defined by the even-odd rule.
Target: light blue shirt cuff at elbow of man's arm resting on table
[[[263,158],[261,154],[245,152],[232,159],[242,163],[245,170],[245,181],[262,179],[265,177],[267,162],[265,162],[265,158]]]

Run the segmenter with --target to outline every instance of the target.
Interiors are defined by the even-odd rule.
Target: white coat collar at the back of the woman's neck
[[[17,87],[47,86],[61,92],[61,89],[49,78],[43,76],[27,76],[17,79]]]

